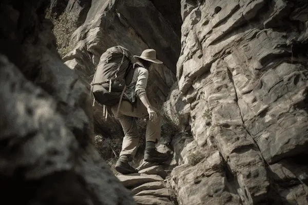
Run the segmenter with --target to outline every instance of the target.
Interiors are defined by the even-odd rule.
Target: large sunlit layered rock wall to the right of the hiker
[[[179,203],[307,204],[308,3],[181,8],[178,87],[164,105],[174,122],[188,116],[194,137],[174,144],[185,144],[170,180]],[[202,157],[189,165],[197,149]]]

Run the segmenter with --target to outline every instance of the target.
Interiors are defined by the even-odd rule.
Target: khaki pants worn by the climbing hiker
[[[138,129],[136,124],[136,118],[148,118],[148,112],[145,106],[142,104],[141,100],[138,98],[136,106],[130,104],[129,101],[123,100],[119,109],[119,114],[117,114],[118,105],[112,106],[111,111],[115,117],[120,121],[122,125],[123,132],[125,134],[122,143],[121,155],[132,155],[136,154],[139,138],[138,138]],[[145,133],[146,141],[160,140],[161,137],[161,116],[157,112],[157,119],[155,121],[147,120],[147,127]]]

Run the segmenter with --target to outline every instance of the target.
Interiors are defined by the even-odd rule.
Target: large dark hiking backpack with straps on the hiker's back
[[[103,116],[107,119],[107,108],[117,105],[119,113],[121,101],[126,88],[130,85],[133,76],[132,54],[122,46],[114,46],[101,55],[99,64],[95,70],[90,84],[91,93],[95,101],[103,105]],[[95,93],[99,93],[99,99],[95,99]]]

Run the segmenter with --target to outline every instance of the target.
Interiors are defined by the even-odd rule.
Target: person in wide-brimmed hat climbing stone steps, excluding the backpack
[[[123,47],[121,48],[123,50]],[[124,50],[123,53],[125,52],[128,51]],[[163,62],[156,58],[156,51],[154,49],[146,49],[140,56],[134,55],[133,57],[137,59],[137,63],[132,65],[132,68],[130,69],[132,71],[131,74],[127,74],[127,72],[125,73],[125,81],[127,86],[125,86],[123,90],[124,92],[120,96],[120,103],[110,106],[113,116],[115,119],[120,121],[125,134],[120,157],[115,164],[115,170],[122,174],[138,172],[128,163],[132,161],[139,144],[136,118],[147,119],[144,160],[147,162],[164,162],[169,157],[168,154],[160,153],[156,150],[155,145],[161,137],[161,116],[157,110],[150,105],[146,94],[148,70],[153,64],[162,64]],[[123,58],[121,64],[125,64],[126,58],[124,60]],[[119,69],[121,70],[120,66],[118,70]],[[105,81],[107,82],[108,78]],[[113,85],[111,80],[109,83],[109,93],[107,94],[111,94],[111,85]],[[95,83],[92,85],[95,85]],[[108,82],[105,85],[105,90],[108,90]],[[103,95],[101,92],[93,93],[93,96],[98,101],[104,100],[102,99]],[[107,102],[105,104],[107,104]]]

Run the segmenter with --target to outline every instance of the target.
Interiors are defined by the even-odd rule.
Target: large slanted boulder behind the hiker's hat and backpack
[[[153,48],[158,58],[164,61],[163,65],[156,65],[150,72],[147,90],[154,106],[163,104],[175,83],[180,38],[169,21],[147,0],[93,0],[85,23],[74,32],[71,44],[74,49],[63,60],[87,86],[101,54],[117,45],[136,55],[144,49]],[[96,105],[93,113],[95,132],[105,136],[118,135],[121,130],[119,124],[112,117],[104,121],[100,106]]]

